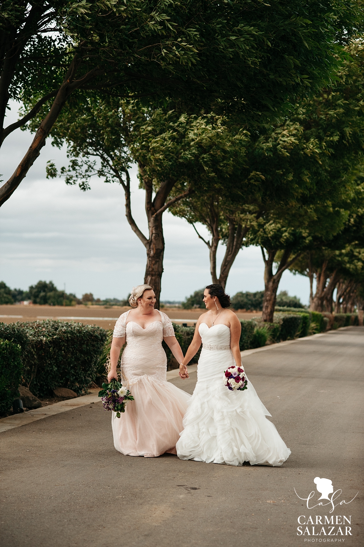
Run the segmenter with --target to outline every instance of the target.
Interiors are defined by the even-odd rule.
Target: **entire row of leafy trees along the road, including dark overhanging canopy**
[[[265,321],[273,319],[281,275],[304,256],[333,253],[322,275],[326,258],[310,270],[327,274],[322,290],[330,276],[345,283],[333,264],[337,253],[355,248],[359,275],[361,2],[16,5],[4,2],[0,12],[0,114],[10,97],[22,101],[24,115],[3,138],[26,126],[36,136],[0,189],[0,205],[51,134],[55,146],[68,147],[69,165],[59,171],[67,184],[87,190],[97,174],[124,189],[157,307],[167,209],[206,243],[214,283],[225,287],[242,246],[261,247]],[[132,216],[134,162],[146,235]],[[57,175],[49,163],[48,176]],[[226,251],[218,274],[220,242]],[[313,297],[315,309],[318,302]]]

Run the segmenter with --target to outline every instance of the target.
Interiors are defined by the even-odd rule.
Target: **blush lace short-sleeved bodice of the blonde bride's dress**
[[[166,382],[167,357],[162,340],[174,336],[171,319],[160,311],[162,321],[154,321],[143,329],[134,321],[126,323],[129,311],[122,313],[114,329],[115,338],[126,337],[121,357],[123,385],[131,386],[145,377],[157,383]]]

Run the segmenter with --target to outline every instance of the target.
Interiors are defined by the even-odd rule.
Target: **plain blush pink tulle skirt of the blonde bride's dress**
[[[155,457],[170,452],[183,429],[182,420],[191,395],[172,383],[157,383],[147,375],[128,386],[134,401],[120,418],[111,418],[114,446],[128,456]]]

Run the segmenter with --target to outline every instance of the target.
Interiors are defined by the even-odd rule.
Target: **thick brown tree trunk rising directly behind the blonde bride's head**
[[[163,237],[162,215],[153,215],[149,222],[149,240],[146,244],[144,283],[153,287],[156,297],[154,306],[156,310],[160,309],[164,253],[165,239]]]

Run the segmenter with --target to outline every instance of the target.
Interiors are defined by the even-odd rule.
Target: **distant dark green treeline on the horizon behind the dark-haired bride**
[[[185,310],[191,308],[205,309],[205,305],[202,301],[204,289],[196,290],[189,298],[186,298],[181,303]],[[256,293],[236,293],[231,298],[231,307],[234,310],[246,310],[246,311],[261,311],[263,306],[263,290],[258,290]],[[303,308],[301,300],[297,296],[290,296],[286,290],[281,290],[277,296],[276,306],[280,307],[295,307]]]

